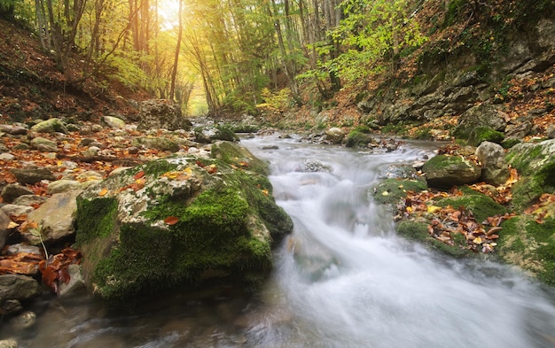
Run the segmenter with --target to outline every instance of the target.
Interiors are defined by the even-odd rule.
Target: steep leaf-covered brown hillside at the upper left
[[[35,35],[0,19],[0,118],[26,120],[72,116],[90,119],[100,113],[135,112],[133,100],[148,95],[129,90],[106,74],[82,79],[82,58],[60,73]]]

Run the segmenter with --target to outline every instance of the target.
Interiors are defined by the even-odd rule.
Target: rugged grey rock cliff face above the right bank
[[[435,122],[435,128],[440,124],[450,135],[455,126],[457,138],[472,138],[473,129],[480,127],[513,139],[549,132],[535,119],[552,113],[555,104],[553,37],[555,17],[551,16],[538,19],[525,31],[508,34],[491,61],[465,47],[450,55],[427,51],[408,84],[400,89],[384,85],[357,106],[366,122],[425,127]],[[517,83],[525,89],[512,93]],[[515,107],[533,99],[537,102],[528,110]]]

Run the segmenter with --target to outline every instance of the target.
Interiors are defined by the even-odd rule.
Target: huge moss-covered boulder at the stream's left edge
[[[255,287],[269,275],[271,246],[293,223],[265,175],[223,159],[158,159],[82,192],[76,241],[95,295],[124,303],[161,290]]]

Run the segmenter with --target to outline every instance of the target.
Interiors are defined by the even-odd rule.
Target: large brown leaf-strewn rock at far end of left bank
[[[169,130],[191,129],[191,121],[186,119],[179,105],[165,99],[145,100],[140,104],[137,128]]]

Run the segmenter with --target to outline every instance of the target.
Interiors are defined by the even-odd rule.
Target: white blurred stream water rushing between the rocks
[[[160,298],[134,314],[85,296],[38,308],[21,347],[555,347],[555,295],[487,259],[453,260],[395,236],[372,185],[429,154],[383,153],[277,137],[243,141],[270,161],[294,222],[260,294]],[[10,336],[3,330],[3,337]]]

